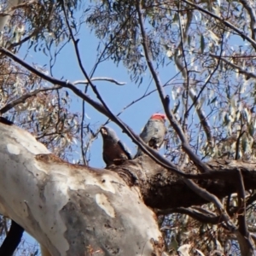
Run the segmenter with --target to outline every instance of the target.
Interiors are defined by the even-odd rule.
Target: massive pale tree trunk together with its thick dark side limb
[[[15,125],[0,123],[0,160],[0,213],[52,256],[161,255],[164,242],[148,207],[168,214],[207,203],[147,155],[111,170],[71,165]],[[255,163],[212,160],[207,165],[211,172],[196,174],[195,166],[183,172],[218,198],[237,192],[238,170],[245,189],[256,189]],[[251,253],[247,245],[241,251]]]

